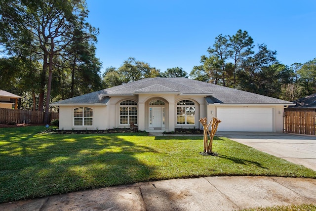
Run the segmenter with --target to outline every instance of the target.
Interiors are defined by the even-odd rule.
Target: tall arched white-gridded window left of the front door
[[[137,102],[133,100],[124,100],[119,103],[119,124],[137,125]]]

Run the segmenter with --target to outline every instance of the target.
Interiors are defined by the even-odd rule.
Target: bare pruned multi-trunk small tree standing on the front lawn
[[[198,120],[202,126],[203,126],[203,131],[204,131],[204,136],[203,136],[203,142],[204,142],[204,153],[209,154],[209,155],[215,155],[212,152],[212,145],[213,145],[213,138],[215,135],[215,132],[217,130],[218,125],[222,122],[219,119],[213,117],[212,120],[207,124],[207,118],[201,118]],[[209,131],[208,127],[211,125],[211,131]],[[209,140],[208,136],[209,135]]]

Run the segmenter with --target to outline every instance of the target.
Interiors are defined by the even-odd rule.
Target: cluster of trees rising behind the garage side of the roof
[[[316,92],[316,59],[285,66],[267,45],[255,48],[246,31],[219,35],[207,52],[190,78],[288,101]]]

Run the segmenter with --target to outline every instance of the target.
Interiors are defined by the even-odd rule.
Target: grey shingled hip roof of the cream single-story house
[[[241,91],[225,86],[209,84],[188,78],[146,78],[127,84],[52,103],[52,105],[107,103],[111,96],[140,93],[177,93],[179,95],[207,96],[207,103],[224,104],[285,104],[292,102]]]

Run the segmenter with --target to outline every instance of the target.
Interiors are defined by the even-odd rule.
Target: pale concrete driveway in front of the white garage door
[[[316,170],[316,137],[278,132],[216,132],[294,164]]]

